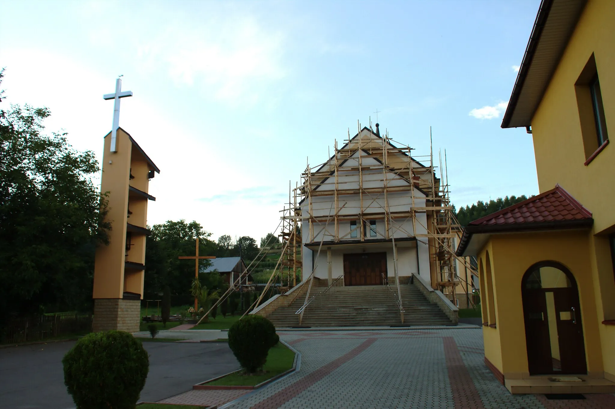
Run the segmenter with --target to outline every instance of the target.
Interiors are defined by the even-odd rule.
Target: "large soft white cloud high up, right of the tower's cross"
[[[176,84],[196,85],[229,103],[256,103],[268,83],[285,76],[283,36],[253,17],[223,22],[169,23],[137,45],[137,56],[143,66],[162,65]]]

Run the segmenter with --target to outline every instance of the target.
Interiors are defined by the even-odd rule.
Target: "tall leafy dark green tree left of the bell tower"
[[[49,115],[0,109],[0,321],[41,306],[89,310],[95,248],[108,243],[95,154],[44,133]]]

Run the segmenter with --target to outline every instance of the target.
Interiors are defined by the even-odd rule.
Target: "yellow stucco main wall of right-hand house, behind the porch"
[[[615,374],[613,262],[605,233],[615,230],[615,140],[585,166],[581,116],[575,83],[595,57],[610,139],[615,139],[615,1],[590,0],[582,12],[541,103],[532,119],[534,154],[541,192],[559,183],[593,214],[590,271],[603,345],[605,371]],[[582,109],[582,107],[581,107]],[[593,236],[595,234],[595,236]]]

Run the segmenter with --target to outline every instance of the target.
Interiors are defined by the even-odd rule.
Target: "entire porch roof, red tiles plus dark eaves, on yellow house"
[[[592,212],[584,208],[560,185],[520,203],[470,222],[464,229],[458,256],[474,255],[488,236],[544,230],[586,228],[593,224]]]

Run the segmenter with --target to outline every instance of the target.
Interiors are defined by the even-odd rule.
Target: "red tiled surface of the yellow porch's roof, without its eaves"
[[[506,209],[482,217],[469,226],[493,226],[521,223],[544,223],[565,220],[591,219],[592,212],[585,209],[560,185]]]

